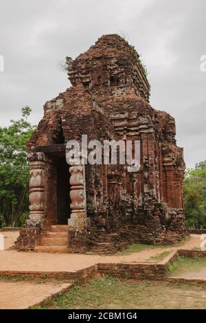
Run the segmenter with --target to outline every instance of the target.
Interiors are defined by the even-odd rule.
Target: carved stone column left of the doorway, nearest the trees
[[[30,157],[30,221],[41,223],[45,218],[45,161],[43,153]]]

